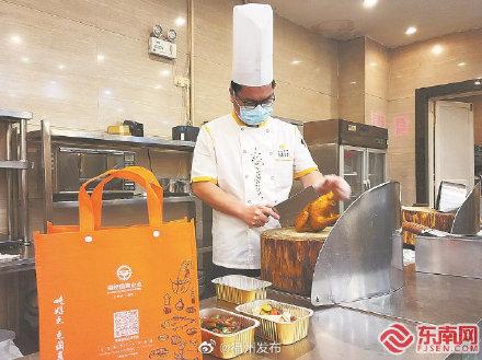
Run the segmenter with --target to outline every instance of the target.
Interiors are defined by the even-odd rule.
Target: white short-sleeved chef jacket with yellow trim
[[[236,113],[205,124],[197,137],[192,182],[213,182],[241,202],[274,206],[288,198],[292,179],[318,170],[295,125],[269,117],[248,127]],[[260,234],[279,222],[269,218],[262,228],[213,210],[213,262],[239,268],[260,268]]]

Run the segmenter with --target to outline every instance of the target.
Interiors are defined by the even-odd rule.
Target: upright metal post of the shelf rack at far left
[[[20,120],[20,160],[27,161],[26,156],[26,119]],[[20,224],[21,234],[24,245],[30,245],[30,227],[28,227],[28,169],[20,171]]]

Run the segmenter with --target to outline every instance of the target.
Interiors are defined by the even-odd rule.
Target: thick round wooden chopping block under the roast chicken
[[[272,229],[261,234],[261,277],[273,287],[301,295],[311,294],[318,254],[332,228],[318,233],[294,228]]]

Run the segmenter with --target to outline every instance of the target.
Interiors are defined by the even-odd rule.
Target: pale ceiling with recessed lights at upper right
[[[482,0],[379,0],[365,9],[362,0],[266,0],[275,11],[326,37],[351,39],[366,35],[398,47],[455,32],[482,27]],[[405,30],[416,26],[408,36]]]

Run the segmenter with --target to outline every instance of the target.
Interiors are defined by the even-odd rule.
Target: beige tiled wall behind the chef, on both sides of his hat
[[[230,111],[232,7],[196,0],[195,123]],[[170,136],[187,114],[187,0],[0,0],[0,107],[32,111],[35,123],[104,130],[123,119]],[[177,32],[175,61],[150,57],[152,25]],[[337,114],[337,44],[275,19],[276,114],[319,119]]]

